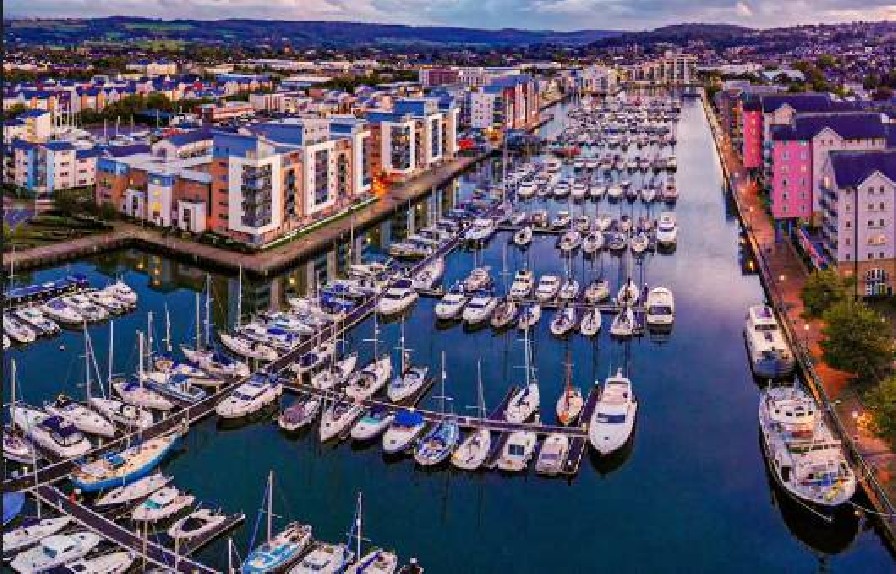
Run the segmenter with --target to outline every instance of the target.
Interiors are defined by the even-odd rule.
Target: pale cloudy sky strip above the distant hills
[[[896,0],[3,0],[5,17],[342,20],[553,30],[896,20]]]

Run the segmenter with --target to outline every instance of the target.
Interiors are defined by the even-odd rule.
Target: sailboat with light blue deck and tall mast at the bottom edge
[[[263,543],[254,548],[246,557],[240,567],[241,574],[267,574],[271,572],[281,572],[288,568],[302,555],[302,552],[311,543],[311,526],[301,524],[299,522],[291,522],[286,528],[273,533],[273,491],[274,491],[274,472],[268,474],[268,484],[265,490],[264,501],[267,510],[265,512],[267,519],[267,538]],[[258,533],[258,524],[261,520],[263,510],[259,509],[258,519],[255,522],[255,532],[252,534],[254,542],[255,535]]]

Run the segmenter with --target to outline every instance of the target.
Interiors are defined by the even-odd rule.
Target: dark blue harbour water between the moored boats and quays
[[[741,335],[747,306],[762,301],[763,292],[757,277],[742,273],[738,224],[729,211],[699,102],[685,102],[678,142],[676,252],[648,255],[640,265],[608,253],[593,261],[578,255],[570,266],[583,284],[599,275],[608,278],[613,292],[628,275],[641,284],[671,288],[676,298],[671,336],[619,343],[607,335],[605,318],[595,340],[575,335],[567,342],[550,334],[550,312],[533,333],[547,422],[554,420],[568,348],[573,382],[586,391],[619,367],[627,371],[640,408],[634,441],[624,452],[605,459],[586,454],[579,475],[568,481],[534,474],[423,471],[411,458],[385,458],[377,443],[321,446],[316,429],[288,438],[269,418],[236,428],[221,427],[211,418],[190,432],[163,470],[206,506],[249,515],[246,526],[234,534],[241,556],[252,536],[266,475],[273,469],[278,514],[312,524],[316,538],[341,541],[355,494],[363,491],[365,536],[394,549],[404,561],[418,557],[434,574],[892,572],[892,556],[864,521],[825,526],[782,501],[772,486],[759,446],[758,390]],[[402,237],[409,220],[425,220],[435,206],[449,207],[499,171],[489,162],[439,190],[435,198],[399,210],[373,229],[358,230],[354,251],[373,255],[378,246]],[[568,208],[539,200],[531,206]],[[585,206],[592,214],[595,207],[635,216],[645,209],[626,202]],[[657,208],[652,209],[655,217]],[[566,272],[555,238],[537,237],[527,252],[508,245],[508,239],[507,233],[498,234],[482,252],[451,255],[445,283],[465,276],[477,263],[500,274],[505,260],[508,281],[523,265],[536,275]],[[338,274],[348,253],[347,243],[340,244],[272,281],[245,280],[244,316],[283,307],[287,296],[312,290]],[[156,315],[157,344],[164,336],[166,307],[172,341],[194,336],[194,293],[204,284],[203,270],[151,254],[119,252],[17,281],[55,278],[66,269],[85,273],[97,286],[122,275],[139,294],[137,312],[116,321],[115,372],[134,369],[135,332],[145,328],[148,310]],[[235,320],[238,285],[236,277],[213,278],[217,328]],[[421,299],[405,324],[415,360],[437,369],[445,352],[446,392],[457,411],[475,403],[476,363],[481,361],[486,403],[496,404],[523,377],[517,368],[523,361],[519,333],[437,326],[434,305],[433,299]],[[381,349],[397,344],[399,323],[382,324],[379,331]],[[99,370],[105,373],[108,326],[92,326],[90,332]],[[360,350],[362,361],[372,355],[372,345],[364,341],[372,333],[371,319],[349,337],[347,344]],[[20,398],[39,404],[59,393],[82,396],[82,353],[81,335],[72,331],[7,352],[18,362]],[[436,402],[429,398],[424,404]],[[199,557],[224,568],[226,541],[217,541]]]

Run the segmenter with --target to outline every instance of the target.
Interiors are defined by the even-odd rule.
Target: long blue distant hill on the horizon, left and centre
[[[279,20],[157,20],[112,16],[88,19],[17,19],[4,21],[12,45],[79,44],[91,41],[174,40],[203,44],[353,46],[526,46],[584,45],[619,34],[611,30],[486,30],[448,26],[405,26],[360,22]]]

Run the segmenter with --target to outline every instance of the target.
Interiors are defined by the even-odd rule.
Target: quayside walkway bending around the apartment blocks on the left
[[[113,231],[103,235],[4,253],[3,265],[7,268],[12,264],[14,269],[31,269],[112,249],[142,247],[196,264],[231,271],[242,268],[247,273],[265,277],[327,249],[334,242],[347,237],[352,225],[361,228],[385,219],[408,201],[426,195],[433,187],[449,181],[491,153],[483,152],[453,159],[410,181],[391,186],[385,196],[356,209],[351,215],[344,215],[336,221],[322,225],[312,233],[257,253],[240,253],[166,235],[159,230],[134,223],[117,222]]]

